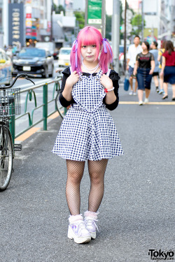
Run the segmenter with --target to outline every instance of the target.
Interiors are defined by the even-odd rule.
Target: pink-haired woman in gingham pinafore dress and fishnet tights
[[[76,243],[96,238],[97,210],[104,196],[109,159],[123,154],[113,119],[106,108],[118,106],[116,71],[108,68],[111,46],[94,27],[80,30],[71,50],[71,67],[64,69],[59,101],[71,105],[62,121],[52,152],[66,159],[68,238]],[[80,214],[80,181],[87,160],[90,175],[88,209]]]

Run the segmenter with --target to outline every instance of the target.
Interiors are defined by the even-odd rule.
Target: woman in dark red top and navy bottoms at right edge
[[[175,52],[172,41],[165,44],[165,52],[162,54],[162,70],[160,75],[164,75],[164,92],[162,99],[168,98],[168,83],[172,85],[173,96],[175,101]]]

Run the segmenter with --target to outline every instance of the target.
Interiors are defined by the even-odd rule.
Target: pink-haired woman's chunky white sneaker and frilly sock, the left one
[[[77,214],[69,217],[68,238],[73,239],[77,244],[87,243],[91,240],[90,232],[87,230],[83,216]]]

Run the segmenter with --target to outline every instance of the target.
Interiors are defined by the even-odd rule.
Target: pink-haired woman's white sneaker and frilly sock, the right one
[[[96,212],[90,212],[90,211],[86,211],[85,212],[85,225],[87,230],[90,232],[91,238],[95,239],[96,238],[96,229],[97,231],[99,231],[99,228],[97,227],[97,224],[95,223],[95,221],[97,220],[97,214]]]

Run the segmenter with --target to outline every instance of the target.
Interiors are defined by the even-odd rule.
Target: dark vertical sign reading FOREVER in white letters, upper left
[[[8,45],[24,45],[24,3],[8,3]]]

